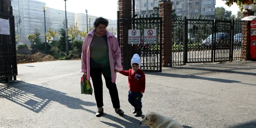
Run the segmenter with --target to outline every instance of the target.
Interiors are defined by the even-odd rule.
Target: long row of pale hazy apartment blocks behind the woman
[[[34,33],[35,29],[40,32],[42,41],[44,41],[45,33],[45,17],[43,7],[45,2],[36,0],[13,0],[11,6],[13,7],[13,15],[15,16],[15,33],[19,35],[19,42],[21,44],[30,44],[27,35]],[[46,29],[51,28],[58,31],[65,28],[65,11],[54,8],[46,8]],[[75,25],[80,31],[86,31],[87,25],[90,31],[90,26],[93,28],[93,23],[97,16],[88,15],[88,23],[85,12],[73,13],[67,11],[68,28]],[[109,29],[117,29],[117,20],[109,20]],[[113,32],[114,33],[114,32]],[[116,33],[116,32],[115,32]],[[58,39],[56,36],[55,39]]]

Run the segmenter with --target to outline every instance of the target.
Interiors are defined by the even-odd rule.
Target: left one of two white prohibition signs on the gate
[[[128,33],[128,44],[140,44],[140,30],[130,29]]]

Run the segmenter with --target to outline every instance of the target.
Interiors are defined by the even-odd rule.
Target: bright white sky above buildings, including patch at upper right
[[[47,7],[65,10],[65,1],[63,0],[38,0],[45,2]],[[117,1],[118,0],[67,0],[67,11],[75,13],[86,13],[88,15],[102,16],[108,19],[117,19]],[[131,0],[132,1],[132,0]],[[216,7],[224,7],[228,11],[232,11],[232,14],[236,15],[239,8],[236,4],[228,7],[222,0],[216,0]]]

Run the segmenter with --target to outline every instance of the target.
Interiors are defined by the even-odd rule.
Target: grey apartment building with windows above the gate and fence
[[[173,9],[179,17],[198,17],[200,14],[205,17],[215,18],[216,0],[170,0]],[[155,13],[159,0],[135,0],[135,13],[145,15]]]

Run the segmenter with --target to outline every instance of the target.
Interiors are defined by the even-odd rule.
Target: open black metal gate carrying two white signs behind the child
[[[124,24],[120,28],[120,24]],[[128,38],[128,33],[120,33],[120,29],[129,30],[129,29],[138,29],[140,30],[140,44],[133,44],[132,51],[127,51],[123,47],[123,38]],[[156,44],[144,44],[144,29],[156,29],[157,30],[157,43]],[[140,15],[137,18],[125,18],[117,19],[117,38],[123,56],[137,53],[141,58],[141,69],[144,71],[162,71],[162,18],[157,15]],[[126,40],[127,42],[127,40]],[[122,63],[123,67],[131,67],[130,62]]]

